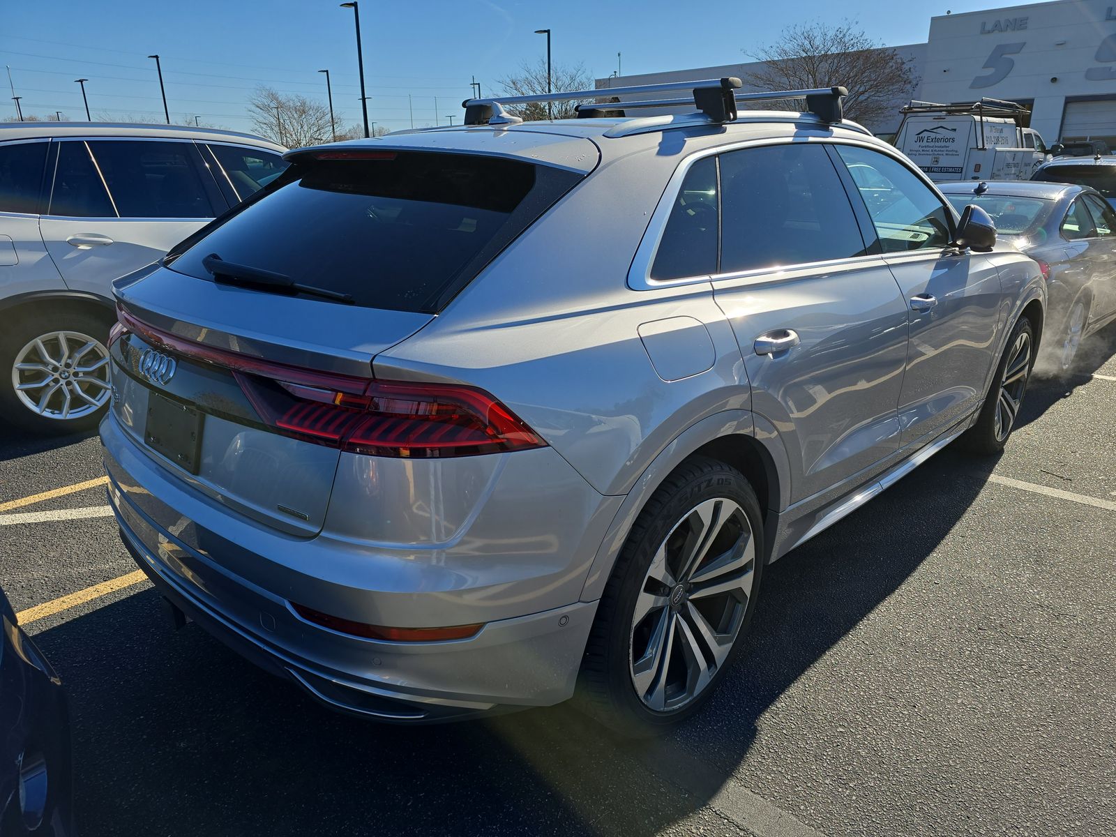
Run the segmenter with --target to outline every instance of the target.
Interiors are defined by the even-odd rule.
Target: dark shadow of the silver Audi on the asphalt
[[[768,567],[722,687],[654,741],[566,705],[419,728],[340,715],[196,626],[171,632],[151,589],[50,627],[83,834],[742,830],[763,785],[733,776],[764,711],[935,550],[993,464],[947,450]]]

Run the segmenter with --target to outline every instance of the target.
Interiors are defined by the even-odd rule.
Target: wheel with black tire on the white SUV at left
[[[0,335],[0,417],[38,434],[96,427],[108,408],[112,316],[36,310]]]

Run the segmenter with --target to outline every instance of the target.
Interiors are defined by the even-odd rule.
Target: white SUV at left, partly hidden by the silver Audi
[[[0,417],[46,433],[95,426],[112,281],[277,177],[282,152],[172,125],[0,127]]]

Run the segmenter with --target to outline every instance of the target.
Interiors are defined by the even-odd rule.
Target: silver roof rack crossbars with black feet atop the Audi
[[[580,117],[625,116],[627,110],[644,107],[670,107],[693,105],[711,122],[725,123],[737,118],[738,102],[777,102],[780,99],[805,98],[806,109],[822,122],[840,122],[844,118],[843,99],[848,95],[844,87],[819,87],[809,90],[773,90],[768,93],[735,93],[742,83],[739,78],[709,78],[700,81],[670,81],[667,84],[636,85],[633,87],[597,88],[593,90],[565,90],[540,93],[529,96],[490,96],[465,99],[465,125],[510,125],[522,122],[504,110],[504,105],[526,105],[543,102],[570,102],[591,99],[577,106]],[[673,90],[690,90],[691,96],[679,98],[648,98],[636,102],[619,102],[619,96],[655,96]],[[602,100],[604,99],[604,100]]]

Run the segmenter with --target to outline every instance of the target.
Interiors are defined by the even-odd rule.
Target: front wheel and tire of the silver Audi
[[[1035,367],[1035,328],[1021,317],[1011,329],[992,385],[977,423],[965,433],[965,445],[983,456],[1000,453],[1016,427],[1027,383]]]

